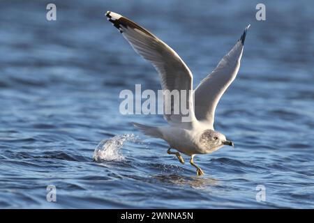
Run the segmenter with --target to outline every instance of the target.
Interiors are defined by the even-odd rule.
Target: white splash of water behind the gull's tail
[[[137,140],[138,137],[135,134],[122,134],[100,141],[94,151],[93,160],[95,162],[123,161],[125,157],[120,153],[120,148],[126,141],[137,142]]]

